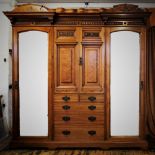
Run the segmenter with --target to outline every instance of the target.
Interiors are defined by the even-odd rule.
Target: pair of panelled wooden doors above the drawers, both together
[[[55,92],[104,92],[102,28],[56,28]]]

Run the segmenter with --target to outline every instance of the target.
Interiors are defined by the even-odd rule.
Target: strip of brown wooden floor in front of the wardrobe
[[[5,150],[0,155],[155,155],[155,150]]]

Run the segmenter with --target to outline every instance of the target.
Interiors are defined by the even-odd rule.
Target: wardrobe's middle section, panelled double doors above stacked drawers
[[[54,140],[104,140],[103,29],[55,28]]]

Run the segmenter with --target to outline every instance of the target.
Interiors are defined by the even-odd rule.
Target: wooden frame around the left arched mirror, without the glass
[[[41,31],[48,34],[48,136],[20,136],[20,90],[19,90],[19,33],[27,31]],[[53,138],[53,27],[13,27],[13,52],[12,52],[12,133],[13,139],[41,139]]]

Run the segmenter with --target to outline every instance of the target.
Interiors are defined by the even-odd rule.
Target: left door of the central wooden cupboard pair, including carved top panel
[[[55,92],[76,92],[79,64],[75,29],[55,32]]]

